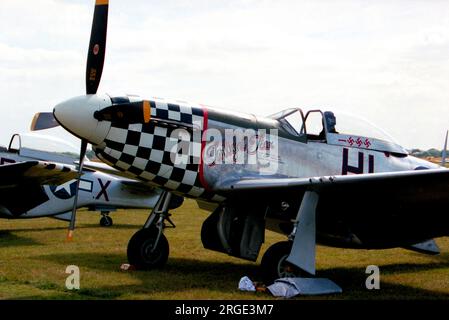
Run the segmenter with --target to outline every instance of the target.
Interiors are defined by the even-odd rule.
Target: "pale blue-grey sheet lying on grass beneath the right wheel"
[[[267,287],[275,297],[292,298],[297,295],[341,293],[343,290],[325,278],[281,278]]]

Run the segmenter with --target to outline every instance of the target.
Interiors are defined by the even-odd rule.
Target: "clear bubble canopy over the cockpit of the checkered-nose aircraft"
[[[407,155],[390,135],[367,120],[345,112],[290,108],[270,116],[289,134],[309,143],[327,143]]]

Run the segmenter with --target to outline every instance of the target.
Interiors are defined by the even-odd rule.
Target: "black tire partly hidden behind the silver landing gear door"
[[[291,241],[277,242],[265,252],[260,266],[266,283],[271,284],[279,278],[299,277],[303,274],[298,267],[285,261],[290,254],[292,245]]]

